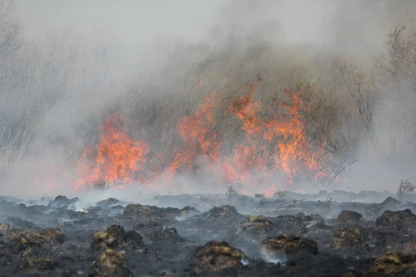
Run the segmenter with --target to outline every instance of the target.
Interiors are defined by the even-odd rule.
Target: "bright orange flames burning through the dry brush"
[[[148,163],[150,150],[144,141],[135,141],[123,127],[121,115],[104,120],[100,127],[100,141],[88,148],[78,161],[75,188],[83,185],[107,184],[120,186],[140,182],[153,184],[157,176],[170,181],[177,173],[193,177],[214,177],[215,185],[238,184],[242,190],[256,189],[265,182],[266,196],[277,187],[294,186],[298,179],[324,178],[321,157],[325,141],[314,150],[306,135],[309,106],[302,100],[303,91],[285,91],[286,101],[272,101],[270,118],[259,116],[261,102],[255,100],[260,79],[248,86],[245,96],[231,102],[227,111],[238,118],[245,137],[235,143],[232,151],[225,149],[224,140],[216,132],[216,109],[220,96],[211,94],[198,109],[177,122],[176,131],[182,139],[173,151],[171,162]],[[202,85],[202,82],[200,82]],[[166,157],[164,153],[153,153]],[[146,172],[146,174],[145,174]],[[276,173],[286,178],[285,184],[270,181]],[[166,181],[169,181],[166,180]]]

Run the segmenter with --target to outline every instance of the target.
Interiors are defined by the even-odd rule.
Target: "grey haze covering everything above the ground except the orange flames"
[[[328,143],[324,169],[352,163],[338,176],[341,188],[395,192],[401,178],[416,177],[411,81],[416,76],[410,75],[411,64],[397,68],[399,79],[387,70],[394,60],[388,34],[400,24],[407,26],[405,32],[414,28],[416,2],[399,3],[15,1],[15,11],[2,20],[19,21],[16,37],[24,43],[0,55],[0,74],[7,76],[0,86],[0,194],[73,193],[77,162],[100,141],[98,127],[113,111],[132,118],[126,132],[149,145],[148,163],[161,162],[155,153],[164,152],[168,164],[184,144],[177,132],[181,118],[198,110],[211,93],[228,101],[243,97],[261,70],[263,87],[256,97],[264,107],[271,99],[284,98],[286,88],[311,90],[309,104],[318,119],[305,123],[305,137],[307,133],[315,152]],[[411,41],[412,33],[403,39]],[[357,72],[362,87],[351,90]],[[230,145],[252,143],[244,141],[241,122],[220,116],[229,105],[226,100],[213,108],[222,157],[229,157]],[[261,116],[272,118],[266,112]],[[322,118],[333,119],[324,124]],[[195,162],[205,154],[196,154]],[[217,162],[214,167],[220,167]],[[200,166],[204,171],[213,165]],[[253,171],[254,180],[264,179]],[[164,176],[159,176],[161,183]],[[33,179],[43,181],[33,186]],[[175,184],[187,188],[175,193],[198,192],[193,182],[178,172]],[[200,183],[210,187],[211,179],[201,177]],[[172,193],[174,187],[161,187],[159,193]],[[266,189],[259,185],[250,193]]]

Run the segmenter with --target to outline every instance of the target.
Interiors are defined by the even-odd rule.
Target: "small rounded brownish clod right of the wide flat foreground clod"
[[[338,229],[332,237],[332,246],[335,249],[356,247],[365,242],[365,235],[359,228]]]

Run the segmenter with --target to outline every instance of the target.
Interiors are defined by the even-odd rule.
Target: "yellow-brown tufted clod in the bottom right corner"
[[[365,276],[415,276],[415,257],[404,255],[395,251],[375,258]]]

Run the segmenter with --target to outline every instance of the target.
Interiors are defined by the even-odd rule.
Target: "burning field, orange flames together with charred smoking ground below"
[[[414,186],[402,180],[397,195],[318,192],[340,183],[345,162],[326,165],[337,159],[327,134],[313,140],[308,132],[305,91],[286,90],[265,107],[261,81],[224,109],[211,93],[180,118],[171,155],[135,139],[122,113],[105,117],[76,162],[71,185],[80,198],[0,197],[2,273],[415,276]],[[221,114],[239,123],[232,143],[218,131]],[[68,175],[57,167],[45,184]],[[200,193],[166,193],[179,177],[187,177],[182,190]]]

